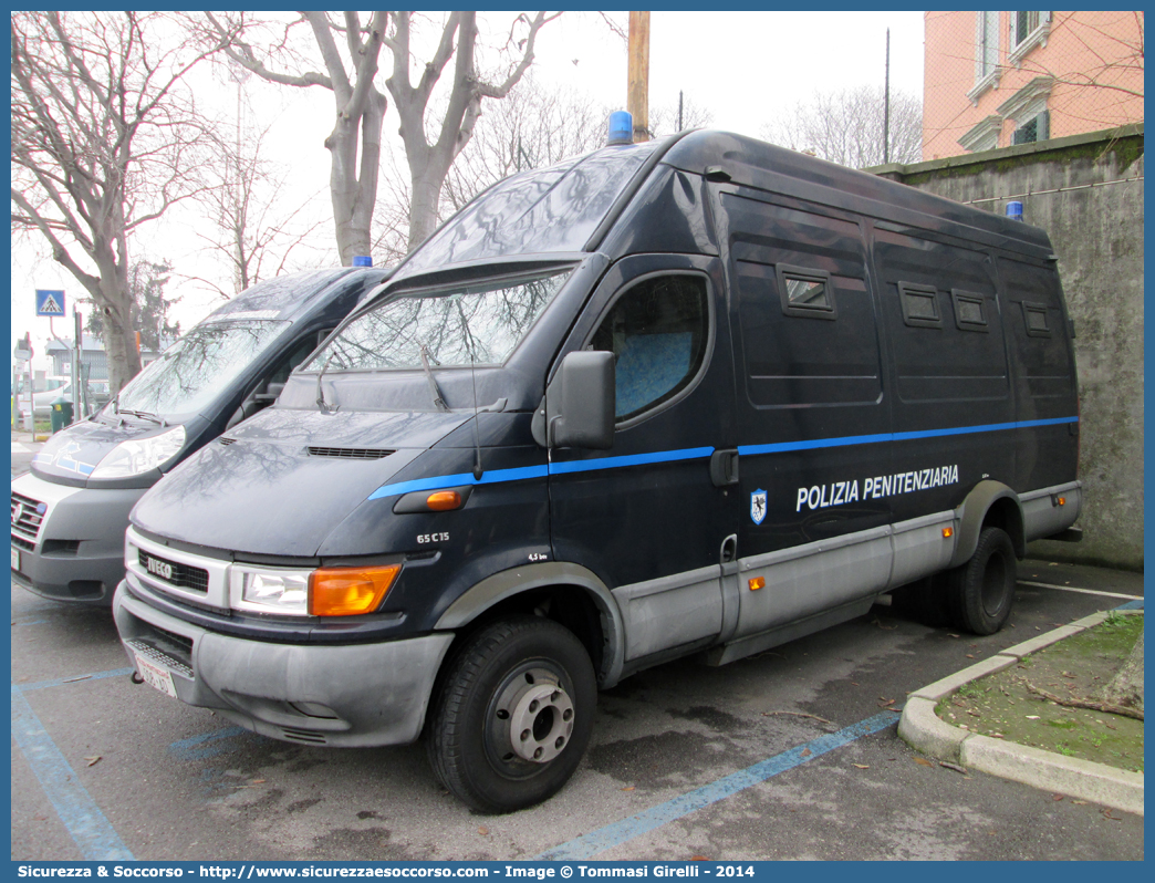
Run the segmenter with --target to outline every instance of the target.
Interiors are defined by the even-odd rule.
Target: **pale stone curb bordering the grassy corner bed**
[[[934,706],[939,700],[951,696],[964,684],[1009,668],[1028,653],[1098,625],[1105,622],[1111,613],[1113,611],[1104,610],[1085,616],[1070,625],[1016,644],[990,659],[915,690],[908,696],[902,710],[899,736],[911,748],[931,757],[1142,816],[1142,773],[1117,770],[1106,764],[1075,757],[1064,757],[1052,751],[1005,742],[978,733],[967,733],[941,720],[934,713]]]

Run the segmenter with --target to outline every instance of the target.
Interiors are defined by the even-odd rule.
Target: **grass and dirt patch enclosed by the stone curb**
[[[1143,721],[1068,708],[1027,687],[1060,697],[1094,697],[1118,671],[1142,629],[1142,614],[1112,614],[1094,629],[973,681],[942,699],[936,713],[971,733],[1142,772]]]

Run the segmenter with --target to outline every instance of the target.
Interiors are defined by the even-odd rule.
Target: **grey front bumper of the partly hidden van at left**
[[[128,513],[144,490],[72,488],[21,475],[12,483],[12,546],[20,556],[13,583],[53,601],[111,604],[125,578]],[[45,511],[37,513],[38,506]]]

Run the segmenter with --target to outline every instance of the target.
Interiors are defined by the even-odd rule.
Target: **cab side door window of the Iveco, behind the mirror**
[[[709,327],[701,276],[646,279],[618,298],[589,346],[617,357],[618,422],[651,410],[690,386],[706,358]]]

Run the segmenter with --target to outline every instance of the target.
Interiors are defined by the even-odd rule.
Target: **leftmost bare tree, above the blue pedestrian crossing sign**
[[[170,15],[15,13],[12,227],[37,231],[103,314],[109,377],[137,371],[128,240],[201,188],[191,49]],[[89,268],[92,268],[90,270]]]

